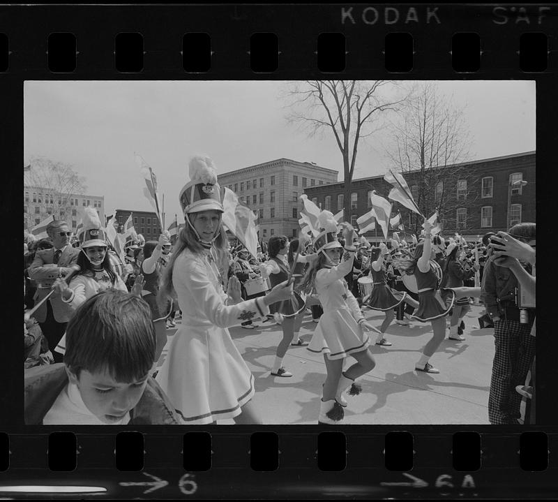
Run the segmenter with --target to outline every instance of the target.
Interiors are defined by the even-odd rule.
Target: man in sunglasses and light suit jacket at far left
[[[57,277],[66,276],[75,270],[77,256],[81,252],[80,249],[70,246],[72,231],[66,221],[51,221],[47,226],[47,234],[54,246],[51,249],[37,251],[29,267],[29,277],[37,283],[35,304],[50,293]],[[53,293],[34,314],[54,355],[54,362],[63,362],[63,355],[54,352],[54,347],[66,331],[72,313],[73,309],[62,301],[60,293]]]

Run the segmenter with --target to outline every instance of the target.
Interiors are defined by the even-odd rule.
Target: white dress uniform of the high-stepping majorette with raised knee
[[[315,278],[316,293],[324,313],[306,348],[315,353],[327,353],[329,359],[342,359],[370,345],[368,334],[357,323],[363,317],[359,302],[343,279],[353,267],[354,252],[347,253],[347,260],[336,267],[318,270]]]

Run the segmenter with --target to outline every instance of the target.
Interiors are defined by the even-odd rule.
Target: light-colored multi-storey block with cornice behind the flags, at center
[[[299,232],[300,195],[306,187],[337,182],[338,171],[313,162],[278,158],[218,175],[250,209],[259,214],[259,238],[272,235],[296,236]]]

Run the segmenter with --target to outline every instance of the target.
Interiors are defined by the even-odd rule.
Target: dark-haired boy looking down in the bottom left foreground
[[[25,371],[27,425],[174,425],[174,407],[149,376],[156,339],[149,306],[107,290],[66,330],[64,362]]]

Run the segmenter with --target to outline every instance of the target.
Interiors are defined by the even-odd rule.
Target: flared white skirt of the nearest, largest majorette
[[[229,330],[189,327],[169,346],[156,380],[184,424],[211,424],[240,415],[254,395],[254,377]]]

